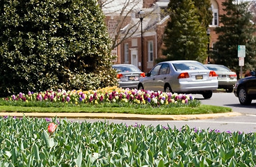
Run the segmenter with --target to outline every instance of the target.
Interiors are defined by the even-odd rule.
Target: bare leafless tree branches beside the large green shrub
[[[112,49],[139,29],[140,21],[134,18],[143,7],[142,0],[99,0],[99,6],[106,15],[106,24],[113,40]]]

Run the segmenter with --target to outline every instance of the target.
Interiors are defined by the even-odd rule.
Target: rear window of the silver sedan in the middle
[[[197,62],[173,63],[175,70],[205,70],[205,66]]]

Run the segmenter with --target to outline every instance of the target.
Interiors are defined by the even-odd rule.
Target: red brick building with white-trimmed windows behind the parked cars
[[[116,0],[122,3],[122,0]],[[144,72],[149,70],[156,64],[155,60],[161,58],[163,48],[163,31],[168,22],[169,15],[164,15],[163,11],[168,7],[169,0],[134,0],[136,5],[131,6],[127,12],[122,15],[118,13],[118,8],[114,3],[114,10],[111,14],[106,14],[106,24],[109,27],[112,38],[118,34],[120,45],[113,49],[113,54],[117,55],[114,63],[134,64]],[[218,36],[214,29],[219,25],[219,15],[223,14],[222,3],[225,0],[211,0],[211,10],[213,12],[212,23],[209,25],[209,48],[214,46]],[[108,8],[109,9],[109,8]],[[144,12],[142,19],[142,35],[141,40],[141,19],[138,13]],[[123,16],[126,17],[123,17]],[[129,17],[127,17],[129,16]],[[122,17],[123,24],[120,27],[114,27],[117,20]],[[112,29],[112,28],[113,29]],[[115,28],[115,33],[113,30]],[[111,31],[112,29],[112,31]],[[118,31],[118,29],[120,31]],[[116,33],[119,32],[119,33]],[[129,38],[127,37],[129,35]],[[206,60],[207,62],[207,60]]]

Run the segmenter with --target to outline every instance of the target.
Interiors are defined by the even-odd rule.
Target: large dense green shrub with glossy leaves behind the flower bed
[[[95,0],[3,0],[0,29],[0,96],[115,84]]]

